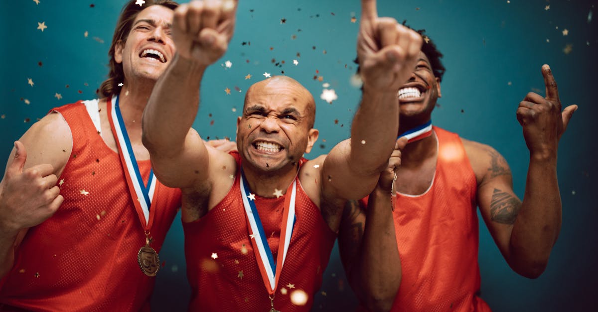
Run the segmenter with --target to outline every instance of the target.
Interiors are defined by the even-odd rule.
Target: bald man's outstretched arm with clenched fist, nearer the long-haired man
[[[210,154],[191,128],[205,69],[227,50],[236,1],[192,1],[176,8],[172,39],[177,54],[158,79],[144,111],[143,142],[162,183],[188,188],[209,176]]]

